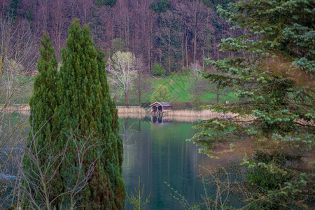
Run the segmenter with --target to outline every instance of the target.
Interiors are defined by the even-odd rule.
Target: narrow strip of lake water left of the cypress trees
[[[7,209],[20,193],[16,188],[20,181],[20,162],[24,140],[28,134],[28,116],[18,112],[6,112],[0,122],[0,209]],[[13,190],[15,189],[15,190]],[[14,196],[13,196],[14,195]]]

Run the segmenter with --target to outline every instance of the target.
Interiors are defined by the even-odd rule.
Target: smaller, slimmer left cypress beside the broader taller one
[[[57,106],[57,59],[55,50],[52,48],[52,43],[47,33],[44,34],[41,40],[41,59],[38,59],[37,69],[38,75],[34,80],[34,94],[31,97],[29,106],[31,114],[29,123],[31,130],[27,139],[26,155],[23,158],[23,169],[25,181],[23,186],[31,193],[28,196],[41,195],[43,192],[43,182],[48,181],[52,176],[50,169],[46,170],[45,178],[38,181],[40,174],[38,167],[43,167],[48,160],[50,149],[54,146],[55,133],[54,116]],[[38,154],[38,155],[36,155]],[[36,160],[35,160],[36,159]],[[43,200],[40,196],[36,197],[35,202],[41,206]],[[29,202],[29,197],[24,200],[24,207],[30,209],[32,207]]]

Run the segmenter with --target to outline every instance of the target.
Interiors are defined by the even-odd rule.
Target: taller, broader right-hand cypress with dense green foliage
[[[118,137],[117,109],[109,95],[103,55],[94,48],[87,25],[81,28],[76,20],[71,23],[68,34],[57,84],[58,146],[60,149],[68,144],[68,149],[60,168],[62,182],[57,188],[66,190],[75,184],[72,176],[79,165],[77,146],[83,147],[83,140],[88,138],[84,144],[90,147],[82,157],[84,167],[80,173],[86,176],[91,166],[94,170],[88,184],[76,195],[77,206],[123,209],[123,144]]]

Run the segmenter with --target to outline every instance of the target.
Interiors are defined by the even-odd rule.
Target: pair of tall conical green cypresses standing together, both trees
[[[32,134],[39,134],[36,146],[48,150],[40,153],[41,160],[46,161],[40,162],[39,167],[53,172],[44,186],[49,186],[51,202],[46,206],[123,209],[123,144],[118,137],[116,104],[109,95],[104,55],[94,48],[87,25],[81,28],[76,20],[68,34],[58,76],[51,44],[46,47],[48,50],[43,48],[30,103],[34,112],[30,120],[34,122]],[[51,163],[56,160],[57,165]],[[29,162],[25,158],[23,165],[29,166]]]

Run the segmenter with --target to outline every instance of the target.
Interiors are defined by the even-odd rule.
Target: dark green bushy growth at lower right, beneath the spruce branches
[[[245,209],[307,208],[303,202],[308,198],[302,192],[311,191],[312,187],[307,186],[311,177],[286,167],[286,161],[293,160],[296,158],[276,151],[258,151],[253,160],[244,159],[242,165],[249,169],[248,190],[252,195]]]

